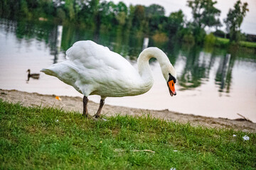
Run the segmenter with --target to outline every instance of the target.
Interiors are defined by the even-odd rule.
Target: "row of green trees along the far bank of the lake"
[[[167,37],[202,44],[206,40],[205,28],[215,28],[217,36],[225,35],[218,29],[222,24],[220,10],[215,4],[217,1],[213,0],[188,0],[193,20],[186,21],[183,11],[166,16],[164,7],[158,4],[126,6],[122,1],[114,4],[105,0],[0,0],[0,16],[28,20],[41,18],[104,31],[137,31],[145,36],[158,35],[156,37],[160,39]],[[230,42],[238,42],[242,37],[240,26],[248,11],[247,6],[238,0],[224,20]]]

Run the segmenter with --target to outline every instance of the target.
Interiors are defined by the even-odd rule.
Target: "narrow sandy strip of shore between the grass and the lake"
[[[80,111],[80,113],[82,113],[82,98],[80,97],[60,96],[62,100],[58,101],[53,95],[42,95],[23,91],[0,89],[0,98],[2,98],[4,101],[10,101],[12,103],[21,102],[23,106],[53,106],[56,108],[63,108],[65,111]],[[98,106],[98,103],[94,103],[92,101],[88,103],[90,115],[94,115],[94,113],[96,113]],[[256,123],[251,123],[246,120],[208,118],[198,115],[175,113],[168,110],[154,111],[110,105],[105,105],[102,109],[102,114],[105,115],[142,115],[143,113],[150,114],[156,118],[177,121],[179,123],[189,122],[191,125],[203,125],[210,128],[234,128],[235,130],[256,132]]]

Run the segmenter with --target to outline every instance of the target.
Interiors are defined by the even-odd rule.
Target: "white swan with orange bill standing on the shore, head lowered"
[[[141,52],[137,64],[139,72],[121,55],[90,40],[78,41],[66,52],[68,60],[42,69],[48,75],[58,77],[84,95],[83,115],[88,116],[89,95],[101,96],[95,117],[100,116],[106,97],[135,96],[144,94],[153,85],[149,59],[160,63],[171,96],[176,95],[176,71],[162,50],[149,47]]]

